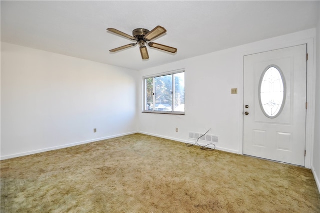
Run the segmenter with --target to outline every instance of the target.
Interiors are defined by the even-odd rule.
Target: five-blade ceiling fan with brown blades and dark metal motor
[[[136,43],[123,45],[121,47],[117,47],[117,48],[114,48],[112,50],[109,50],[110,52],[116,52],[118,50],[129,48],[129,47],[132,47],[132,46],[135,46],[135,45],[138,44],[142,59],[148,59],[149,58],[148,51],[147,51],[146,47],[144,46],[144,44],[147,44],[149,47],[157,48],[157,49],[164,50],[164,51],[167,51],[167,52],[170,52],[170,53],[175,53],[176,50],[177,50],[174,47],[169,47],[169,46],[166,46],[166,45],[161,45],[161,44],[157,44],[157,43],[154,43],[154,42],[150,42],[152,39],[155,39],[156,37],[158,37],[158,36],[160,36],[160,35],[162,35],[162,34],[164,34],[166,32],[166,30],[161,26],[156,26],[151,31],[148,31],[148,30],[143,29],[143,28],[134,29],[132,31],[132,36],[130,36],[130,35],[126,34],[126,33],[122,33],[121,31],[118,31],[118,30],[116,30],[114,28],[107,28],[106,30],[110,31],[112,33],[116,33],[116,34],[118,34],[120,36],[123,36],[125,38],[128,38],[128,39],[130,39],[132,41],[136,41]]]

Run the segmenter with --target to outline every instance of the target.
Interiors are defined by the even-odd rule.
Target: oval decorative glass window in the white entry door
[[[268,118],[277,117],[285,102],[285,80],[279,67],[267,66],[261,74],[258,87],[259,104]]]

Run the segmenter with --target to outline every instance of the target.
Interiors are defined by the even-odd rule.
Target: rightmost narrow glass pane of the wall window
[[[173,74],[174,111],[184,112],[184,72]]]

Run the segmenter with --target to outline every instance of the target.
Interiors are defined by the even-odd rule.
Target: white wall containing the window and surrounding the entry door
[[[314,109],[314,100],[312,102],[310,98],[314,96],[314,39],[315,29],[310,29],[141,70],[138,100],[142,100],[143,76],[185,68],[185,115],[141,113],[140,101],[139,132],[182,142],[194,142],[188,138],[188,132],[204,133],[211,128],[208,134],[218,136],[218,143],[215,143],[217,149],[241,154],[243,56],[307,43],[311,57],[308,62],[307,98],[310,99],[310,108]],[[230,94],[231,88],[237,88],[238,94]],[[308,111],[307,135],[313,135],[312,116],[314,110]],[[175,132],[175,127],[178,127],[178,132]],[[308,136],[306,141],[306,167],[310,168],[313,137]]]

